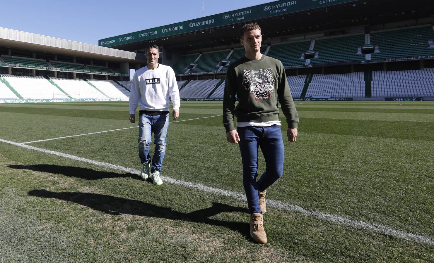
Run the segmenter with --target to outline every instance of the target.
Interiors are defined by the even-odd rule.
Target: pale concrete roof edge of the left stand
[[[0,27],[0,46],[59,55],[141,63],[145,55]]]

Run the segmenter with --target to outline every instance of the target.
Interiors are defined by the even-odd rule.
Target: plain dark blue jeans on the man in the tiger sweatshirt
[[[243,160],[243,185],[250,214],[260,213],[258,191],[263,192],[283,174],[283,140],[280,126],[238,127],[241,159]],[[258,149],[261,148],[266,169],[258,176]]]

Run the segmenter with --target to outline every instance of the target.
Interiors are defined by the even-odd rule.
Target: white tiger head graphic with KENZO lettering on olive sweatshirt
[[[275,80],[273,78],[273,69],[267,68],[266,70],[244,70],[244,88],[252,93],[256,101],[267,100],[273,96]]]

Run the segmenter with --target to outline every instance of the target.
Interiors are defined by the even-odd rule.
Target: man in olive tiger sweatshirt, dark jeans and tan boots
[[[263,227],[266,189],[283,174],[284,149],[277,97],[288,123],[290,142],[296,141],[299,118],[282,62],[261,54],[261,42],[258,25],[251,23],[241,27],[240,43],[246,55],[227,69],[223,123],[227,141],[240,146],[243,185],[250,211],[250,236],[256,242],[266,243]],[[237,130],[233,125],[234,115],[237,116]],[[266,170],[256,181],[259,147]]]

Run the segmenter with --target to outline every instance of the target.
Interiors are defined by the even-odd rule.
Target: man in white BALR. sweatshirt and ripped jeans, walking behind
[[[146,48],[148,65],[137,70],[132,78],[130,94],[130,122],[135,123],[135,111],[140,107],[138,122],[138,156],[142,163],[140,176],[151,178],[155,185],[161,185],[160,173],[166,152],[166,134],[169,125],[169,99],[173,103],[172,116],[179,117],[179,91],[175,73],[169,66],[158,63],[160,49],[157,45]],[[149,155],[151,135],[154,133],[154,156]]]

